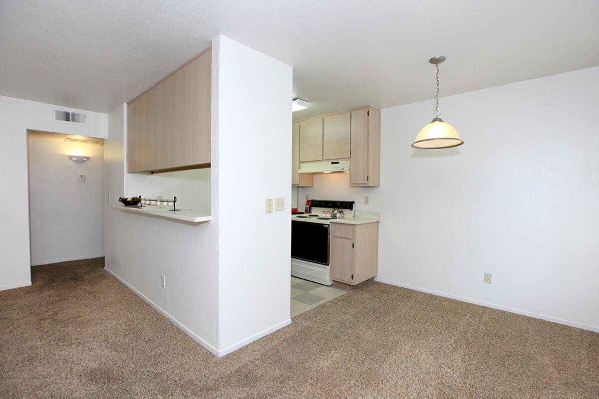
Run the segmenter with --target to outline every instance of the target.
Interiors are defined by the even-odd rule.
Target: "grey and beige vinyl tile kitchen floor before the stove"
[[[291,276],[291,317],[313,309],[349,291]]]

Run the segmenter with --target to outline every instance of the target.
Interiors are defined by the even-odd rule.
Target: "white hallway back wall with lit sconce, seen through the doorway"
[[[29,133],[32,265],[104,256],[104,147],[66,137]],[[77,152],[90,159],[67,157]]]

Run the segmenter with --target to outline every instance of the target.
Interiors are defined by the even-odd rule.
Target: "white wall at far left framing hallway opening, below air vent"
[[[54,107],[0,96],[0,197],[15,199],[2,215],[0,290],[31,284],[27,129],[107,137],[107,114],[83,111],[87,126],[75,126],[55,121]]]

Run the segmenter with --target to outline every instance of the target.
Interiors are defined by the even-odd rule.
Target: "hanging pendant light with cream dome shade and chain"
[[[458,147],[464,144],[459,138],[458,132],[453,129],[449,123],[445,123],[439,115],[439,64],[445,60],[444,56],[432,57],[428,60],[433,65],[437,66],[437,94],[435,95],[435,112],[432,113],[434,118],[431,123],[427,124],[420,130],[416,140],[412,144],[414,148],[434,149],[434,148],[451,148]]]

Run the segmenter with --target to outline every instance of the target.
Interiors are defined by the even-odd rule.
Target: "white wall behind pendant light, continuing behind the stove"
[[[382,211],[380,281],[599,331],[597,87],[589,68],[442,98],[447,150],[410,147],[432,101],[383,109],[380,187],[316,175],[299,202]]]

